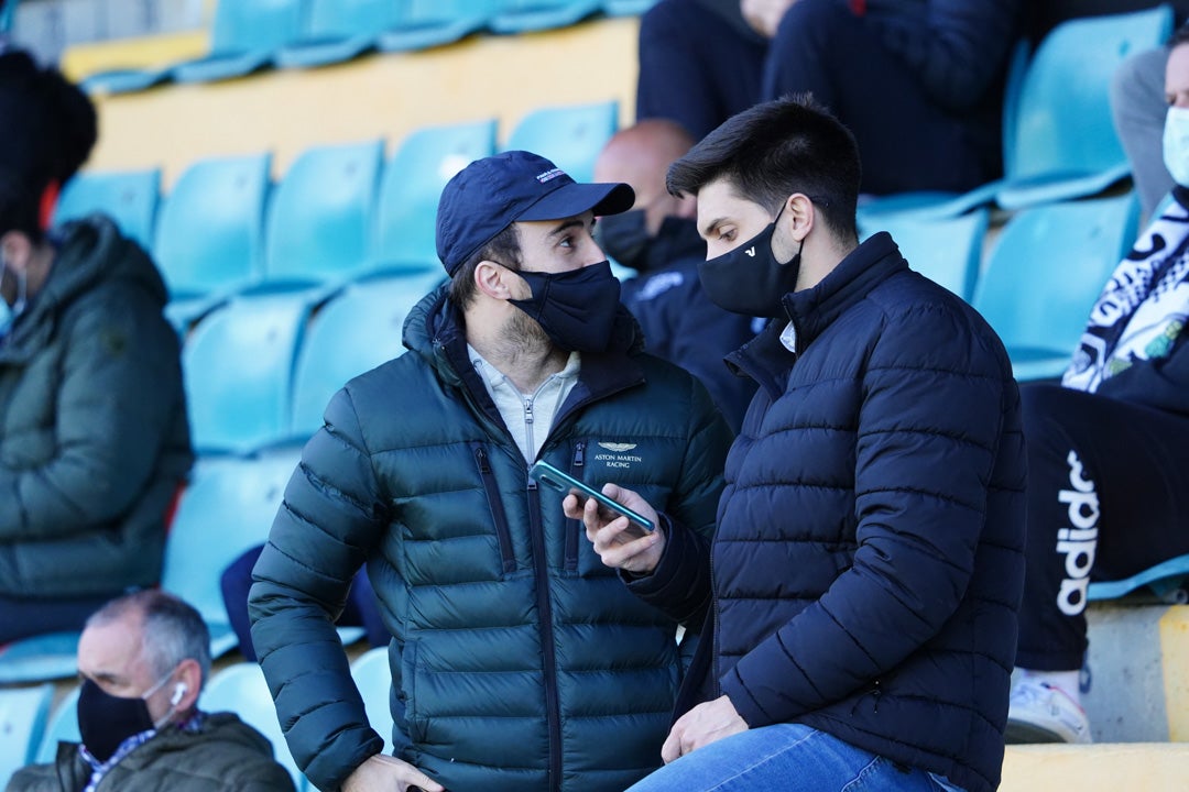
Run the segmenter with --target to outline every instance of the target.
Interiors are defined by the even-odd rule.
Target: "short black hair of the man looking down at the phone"
[[[857,239],[862,169],[855,137],[811,95],[762,102],[732,115],[669,166],[668,191],[698,195],[725,179],[775,215],[803,192],[835,234]]]

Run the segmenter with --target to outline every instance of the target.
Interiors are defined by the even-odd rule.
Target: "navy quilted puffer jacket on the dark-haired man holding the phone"
[[[761,387],[718,511],[710,684],[679,710],[726,693],[753,728],[805,723],[988,792],[1024,581],[1011,363],[887,234],[785,306],[795,353],[778,322],[734,356]],[[679,528],[633,589],[690,588],[669,603],[688,610],[702,543]]]

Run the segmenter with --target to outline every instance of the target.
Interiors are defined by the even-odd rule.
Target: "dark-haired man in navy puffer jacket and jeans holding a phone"
[[[633,540],[564,503],[642,598],[706,614],[669,764],[634,791],[999,784],[1024,575],[1019,393],[974,310],[887,234],[857,243],[858,176],[849,132],[798,100],[734,116],[669,170],[671,191],[698,196],[710,298],[773,321],[729,357],[760,389],[711,546],[680,524]]]

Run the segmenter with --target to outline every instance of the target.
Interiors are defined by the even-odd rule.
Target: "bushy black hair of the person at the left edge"
[[[62,72],[0,52],[0,234],[42,239],[43,194],[78,172],[97,134],[94,104]]]

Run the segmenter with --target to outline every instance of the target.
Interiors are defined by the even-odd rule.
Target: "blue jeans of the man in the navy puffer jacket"
[[[750,729],[688,753],[628,792],[961,792],[944,779],[800,723]]]

